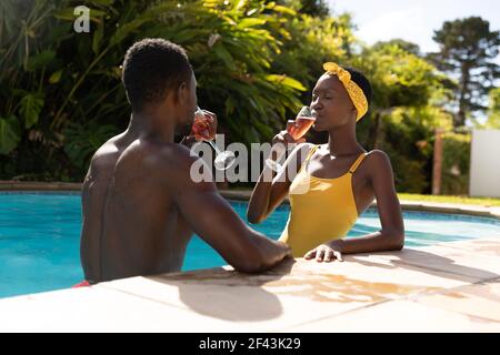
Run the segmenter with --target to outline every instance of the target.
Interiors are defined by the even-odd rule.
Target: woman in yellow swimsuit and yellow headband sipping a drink
[[[323,65],[312,91],[313,129],[328,131],[327,144],[296,141],[287,131],[273,139],[270,158],[281,144],[300,143],[277,175],[264,166],[248,207],[251,223],[263,221],[289,194],[290,217],[280,237],[294,257],[342,261],[342,254],[401,250],[404,226],[388,155],[367,152],[357,141],[356,124],[368,111],[371,85],[353,68]],[[296,168],[297,166],[297,168]],[[381,230],[346,239],[359,215],[377,199]]]

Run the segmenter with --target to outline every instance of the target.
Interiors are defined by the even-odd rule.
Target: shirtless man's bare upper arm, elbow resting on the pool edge
[[[192,164],[203,164],[199,158],[190,156],[186,150],[177,155],[177,163],[169,164],[177,169],[173,174],[172,171],[169,173],[168,189],[172,191],[180,213],[194,233],[229,264],[238,271],[259,272],[273,266],[289,254],[286,244],[269,240],[247,226],[217,192],[212,181],[193,181],[190,175]]]

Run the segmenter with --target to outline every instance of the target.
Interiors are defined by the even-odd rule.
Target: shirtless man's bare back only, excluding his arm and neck
[[[181,268],[192,231],[169,191],[161,189],[160,180],[168,176],[160,176],[166,169],[158,166],[156,155],[168,149],[122,134],[96,153],[82,190],[81,256],[89,265],[87,280]]]

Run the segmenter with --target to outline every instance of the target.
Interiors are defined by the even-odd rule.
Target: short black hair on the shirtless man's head
[[[189,83],[192,68],[182,47],[160,38],[133,43],[123,61],[122,82],[132,110],[158,103],[170,90]]]

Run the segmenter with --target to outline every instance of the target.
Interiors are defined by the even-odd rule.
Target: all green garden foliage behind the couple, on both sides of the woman
[[[231,141],[269,141],[310,102],[323,62],[359,68],[373,85],[359,141],[388,152],[398,191],[430,191],[433,132],[452,129],[447,112],[457,83],[418,45],[391,40],[358,50],[350,16],[327,16],[323,1],[93,0],[86,1],[90,33],[76,33],[80,4],[0,1],[0,179],[81,181],[96,149],[128,124],[120,80],[127,49],[160,37],[186,48],[200,105],[218,114]],[[450,45],[448,54],[459,53]],[[498,90],[490,100],[488,124],[496,126]],[[468,172],[461,138],[447,138],[448,172],[452,162]],[[446,191],[463,190],[464,182],[453,185],[460,179],[443,179]]]

